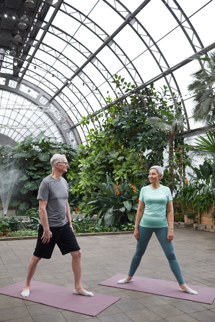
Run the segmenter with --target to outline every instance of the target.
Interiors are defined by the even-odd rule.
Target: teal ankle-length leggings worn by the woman
[[[151,235],[155,232],[155,235],[160,242],[160,245],[166,255],[166,258],[169,261],[169,265],[171,268],[172,273],[175,275],[179,285],[185,283],[184,278],[181,273],[181,268],[179,266],[179,262],[176,259],[175,251],[173,247],[173,242],[167,242],[167,232],[169,227],[162,227],[162,228],[146,228],[139,226],[139,240],[137,242],[137,248],[135,254],[132,258],[130,270],[128,276],[133,276],[140,265],[141,259],[143,254],[146,251],[147,245],[150,241]]]

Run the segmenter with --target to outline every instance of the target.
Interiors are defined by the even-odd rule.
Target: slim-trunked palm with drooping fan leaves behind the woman
[[[163,132],[168,133],[169,144],[169,187],[171,193],[174,189],[175,174],[174,174],[174,139],[176,132],[183,129],[184,117],[180,112],[172,112],[170,110],[159,110],[160,116],[148,118],[146,122],[153,128],[158,128]]]

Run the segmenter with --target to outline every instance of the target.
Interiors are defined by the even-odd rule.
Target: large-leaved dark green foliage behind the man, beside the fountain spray
[[[0,146],[0,165],[8,171],[15,169],[19,177],[15,182],[10,205],[18,206],[17,215],[24,215],[26,210],[38,204],[36,200],[39,185],[44,177],[52,172],[50,158],[53,154],[74,156],[75,151],[70,144],[54,142],[54,138],[45,137],[41,132],[36,138],[25,137],[15,147]],[[9,170],[8,170],[9,169]]]

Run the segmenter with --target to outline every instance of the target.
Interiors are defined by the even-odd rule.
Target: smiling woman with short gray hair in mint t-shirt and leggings
[[[140,265],[142,256],[150,241],[151,235],[155,232],[158,241],[169,261],[171,271],[179,283],[181,292],[198,294],[190,289],[184,281],[175,256],[173,247],[173,206],[172,195],[169,187],[160,184],[163,176],[161,166],[152,166],[149,171],[150,185],[142,187],[139,197],[139,206],[137,209],[134,237],[137,240],[136,252],[132,258],[128,276],[119,280],[118,284],[130,283],[132,277]],[[166,220],[166,215],[168,223]]]

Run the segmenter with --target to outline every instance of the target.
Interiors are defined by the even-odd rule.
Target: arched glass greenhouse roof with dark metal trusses
[[[84,142],[93,124],[80,125],[82,116],[108,109],[108,95],[121,104],[129,99],[112,83],[114,74],[135,91],[167,85],[176,107],[181,101],[186,129],[201,126],[191,119],[187,86],[198,68],[195,55],[215,48],[214,0],[34,4],[0,4],[0,133],[21,141],[46,130],[74,146]]]

